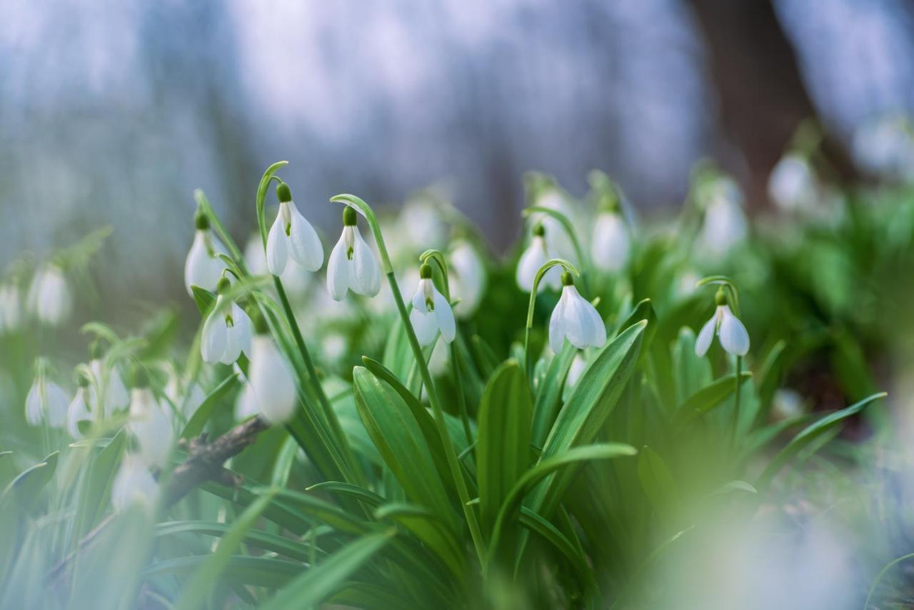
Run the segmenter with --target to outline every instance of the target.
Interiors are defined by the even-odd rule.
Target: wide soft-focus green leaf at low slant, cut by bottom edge
[[[394,534],[395,531],[381,531],[347,544],[325,562],[296,577],[262,607],[264,610],[284,610],[321,604],[383,549]]]

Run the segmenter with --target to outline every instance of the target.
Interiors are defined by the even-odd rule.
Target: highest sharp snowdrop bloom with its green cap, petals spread
[[[267,236],[267,268],[273,275],[282,275],[289,257],[308,271],[317,271],[324,264],[324,246],[317,231],[292,202],[289,185],[276,187],[280,209]]]

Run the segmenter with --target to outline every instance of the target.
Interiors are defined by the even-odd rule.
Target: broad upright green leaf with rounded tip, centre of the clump
[[[485,386],[479,408],[476,482],[484,532],[494,526],[498,509],[530,464],[532,420],[526,375],[508,360]]]

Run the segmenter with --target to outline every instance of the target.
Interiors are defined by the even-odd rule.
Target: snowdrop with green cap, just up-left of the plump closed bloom
[[[203,323],[200,354],[209,364],[231,364],[241,352],[250,355],[250,317],[234,301],[226,303],[225,294],[230,287],[227,277],[219,280],[216,306]]]

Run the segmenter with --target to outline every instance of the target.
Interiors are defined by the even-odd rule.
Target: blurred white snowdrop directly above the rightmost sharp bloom
[[[728,177],[717,178],[705,193],[707,207],[698,244],[703,255],[720,256],[746,239],[748,230],[742,210],[742,193],[736,182]]]

